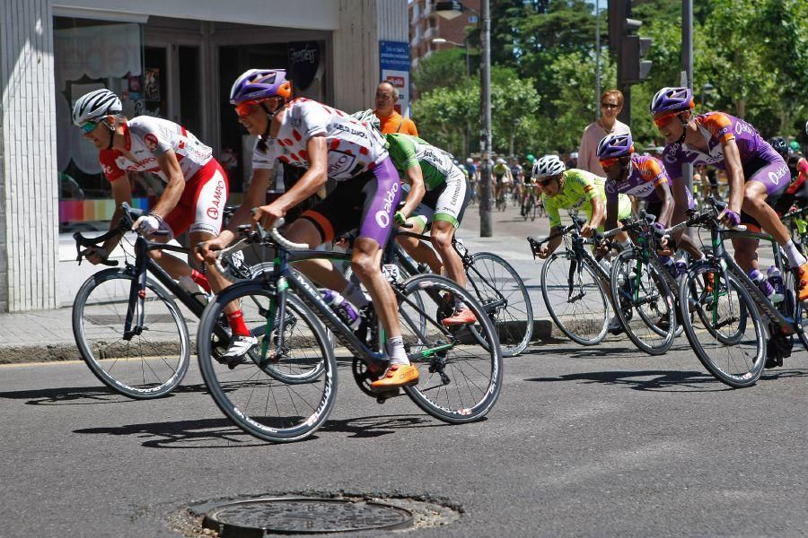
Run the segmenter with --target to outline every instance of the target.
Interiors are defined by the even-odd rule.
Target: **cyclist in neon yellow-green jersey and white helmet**
[[[559,209],[581,210],[586,222],[581,235],[591,237],[594,230],[603,230],[606,218],[606,178],[600,178],[585,170],[566,169],[558,155],[545,155],[533,164],[533,179],[541,193],[541,201],[550,221],[550,234],[561,231]],[[618,196],[618,220],[631,216],[631,201],[627,195]],[[619,233],[615,239],[620,243],[628,240],[628,234]],[[536,256],[544,259],[555,252],[561,237],[550,239]]]

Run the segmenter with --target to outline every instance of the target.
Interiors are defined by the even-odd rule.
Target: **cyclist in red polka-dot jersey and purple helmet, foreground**
[[[408,360],[401,338],[395,295],[382,275],[377,254],[390,238],[400,198],[399,175],[390,160],[382,134],[364,126],[347,113],[314,100],[295,99],[291,83],[281,69],[250,69],[236,79],[230,102],[239,122],[258,135],[253,166],[271,169],[275,161],[306,169],[294,187],[254,216],[271,228],[287,211],[323,187],[329,178],[337,187],[313,209],[285,230],[285,237],[317,247],[336,236],[359,229],[351,267],[373,299],[373,308],[384,327],[391,365],[373,381],[374,389],[417,383],[418,370]],[[208,247],[221,247],[222,241]],[[206,256],[212,253],[207,251]],[[327,260],[297,264],[315,282],[341,292],[360,306],[367,302]],[[360,304],[357,304],[360,303]]]

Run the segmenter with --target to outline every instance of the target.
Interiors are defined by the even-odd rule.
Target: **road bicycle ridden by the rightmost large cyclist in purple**
[[[708,199],[707,204],[711,206],[707,212],[694,215],[672,229],[683,226],[707,229],[712,245],[707,259],[690,265],[681,280],[682,325],[707,371],[728,386],[751,386],[760,378],[767,354],[775,360],[790,354],[794,334],[808,349],[805,334],[808,320],[800,301],[796,300],[795,268],[788,266],[774,239],[744,227],[724,229],[718,214],[725,204],[714,198]],[[733,238],[762,239],[771,243],[775,265],[785,281],[785,299],[772,303],[751,281],[726,251],[725,240]]]

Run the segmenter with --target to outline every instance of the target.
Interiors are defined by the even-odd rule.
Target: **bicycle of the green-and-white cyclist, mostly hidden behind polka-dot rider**
[[[429,241],[429,236],[407,230],[397,230],[396,235]],[[397,265],[405,278],[429,272],[427,265],[418,264],[398,242],[391,240],[391,243],[394,244],[390,247],[390,261]],[[462,240],[456,237],[452,238],[452,248],[461,258],[468,282],[466,288],[474,293],[494,324],[502,356],[519,355],[527,348],[533,335],[531,296],[522,277],[513,265],[493,252],[471,253]],[[347,269],[346,277],[355,278],[350,268]]]

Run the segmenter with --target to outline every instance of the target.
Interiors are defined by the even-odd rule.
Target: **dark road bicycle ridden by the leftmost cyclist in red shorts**
[[[98,247],[124,234],[143,213],[128,204],[121,207],[123,216],[116,228],[93,238],[81,232],[73,235],[79,264],[89,253],[83,248]],[[186,315],[200,317],[207,303],[205,294],[187,291],[148,256],[157,249],[189,253],[188,248],[138,235],[134,263],[127,256],[124,267],[93,274],[73,303],[73,334],[84,362],[106,386],[136,399],[168,395],[180,384],[191,352]],[[103,263],[119,265],[115,260]],[[208,334],[212,348],[224,351],[230,338],[226,323],[211,326]]]

